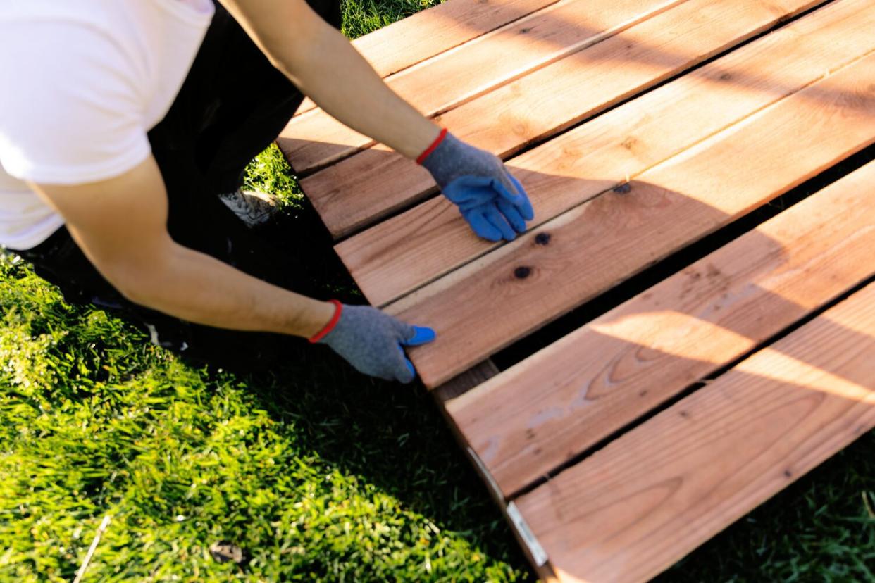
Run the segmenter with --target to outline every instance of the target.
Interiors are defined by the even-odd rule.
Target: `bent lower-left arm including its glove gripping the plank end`
[[[30,184],[60,212],[97,270],[131,302],[189,322],[278,332],[327,344],[358,371],[409,383],[402,346],[435,333],[370,306],[319,302],[259,280],[167,233],[167,195],[149,156],[119,177],[92,184]]]

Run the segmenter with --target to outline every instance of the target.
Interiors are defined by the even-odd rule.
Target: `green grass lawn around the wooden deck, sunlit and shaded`
[[[347,0],[345,31],[427,5]],[[318,228],[276,148],[248,179]],[[186,364],[15,258],[0,310],[0,580],[72,580],[106,515],[87,581],[533,579],[421,386],[305,343],[268,372]],[[875,581],[873,452],[870,433],[662,579]],[[214,560],[220,540],[247,560]]]

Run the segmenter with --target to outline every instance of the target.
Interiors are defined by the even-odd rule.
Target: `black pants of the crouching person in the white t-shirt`
[[[339,27],[339,0],[310,0]],[[322,295],[307,273],[308,246],[276,248],[252,233],[218,194],[242,184],[247,164],[289,121],[303,95],[270,65],[226,10],[216,13],[165,119],[149,132],[169,199],[168,229],[179,244],[305,295]],[[312,246],[309,246],[312,248]],[[153,342],[196,362],[273,364],[290,337],[187,323],[132,303],[88,261],[65,227],[16,251],[70,303],[95,304],[146,330]]]

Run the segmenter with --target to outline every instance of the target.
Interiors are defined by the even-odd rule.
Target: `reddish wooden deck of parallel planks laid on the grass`
[[[510,243],[312,104],[280,136],[367,299],[437,330],[410,357],[544,580],[648,580],[875,427],[873,30],[871,0],[450,0],[356,41],[507,160]]]

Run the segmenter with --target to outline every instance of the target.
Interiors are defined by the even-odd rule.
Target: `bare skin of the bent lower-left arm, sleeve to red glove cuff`
[[[149,156],[93,184],[31,184],[66,220],[97,270],[131,302],[217,328],[312,337],[335,308],[276,287],[167,233],[167,196]]]

